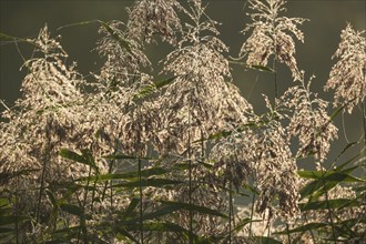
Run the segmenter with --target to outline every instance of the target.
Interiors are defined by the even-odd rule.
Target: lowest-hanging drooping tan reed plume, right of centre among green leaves
[[[232,133],[212,151],[213,159],[218,160],[218,170],[224,170],[234,185],[245,182],[248,175],[254,176],[260,190],[256,203],[258,213],[267,215],[270,220],[277,215],[287,220],[297,216],[297,166],[285,129],[275,118],[252,118],[247,126]],[[278,209],[273,205],[276,197],[279,197]]]

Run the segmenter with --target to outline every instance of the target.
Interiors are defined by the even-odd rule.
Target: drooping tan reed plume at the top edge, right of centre
[[[285,11],[285,0],[250,0],[253,23],[244,29],[244,33],[252,30],[250,38],[243,43],[240,55],[246,57],[248,65],[267,65],[270,57],[285,63],[295,80],[299,72],[295,59],[295,42],[293,37],[304,42],[304,34],[297,26],[303,18],[279,17]]]

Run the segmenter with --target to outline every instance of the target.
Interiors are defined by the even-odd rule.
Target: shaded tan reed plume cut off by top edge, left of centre
[[[176,0],[139,0],[129,10],[129,37],[140,42],[151,42],[154,34],[163,41],[176,42],[181,21],[175,10],[182,10]]]

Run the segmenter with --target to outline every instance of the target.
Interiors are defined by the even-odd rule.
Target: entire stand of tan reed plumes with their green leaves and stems
[[[94,21],[105,63],[89,80],[47,26],[27,39],[34,55],[22,98],[0,122],[0,242],[365,240],[366,179],[353,175],[365,170],[365,136],[327,160],[334,119],[366,102],[364,32],[342,31],[325,85],[335,90],[331,113],[296,63],[306,20],[284,17],[284,0],[248,3],[233,63],[271,72],[275,84],[284,64],[294,80],[283,94],[274,85],[275,101],[264,95],[264,114],[232,82],[228,48],[201,0],[136,0],[126,23]],[[160,41],[174,50],[156,81],[145,48]],[[338,162],[355,145],[359,153]],[[303,159],[316,170],[298,169]]]

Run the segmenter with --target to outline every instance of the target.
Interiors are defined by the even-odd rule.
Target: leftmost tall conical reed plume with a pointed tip
[[[77,88],[80,74],[73,67],[65,67],[63,59],[67,53],[57,40],[50,38],[47,27],[41,29],[37,39],[29,41],[34,43],[40,57],[24,63],[30,73],[22,83],[23,96],[17,101],[20,110],[6,113],[10,122],[1,123],[4,128],[2,136],[6,138],[1,140],[0,161],[6,171],[40,170],[42,159],[49,153],[57,155],[57,151],[71,142],[77,133],[77,125],[72,123],[74,114],[67,108],[81,95]],[[13,150],[21,150],[19,155],[23,154],[23,159],[7,160],[16,155]],[[33,163],[29,164],[29,161]],[[67,165],[54,163],[47,167],[53,180],[69,175]]]

